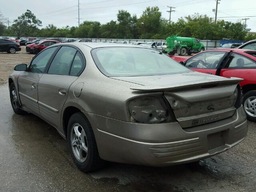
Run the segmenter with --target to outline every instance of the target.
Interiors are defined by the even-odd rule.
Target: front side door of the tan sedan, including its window
[[[40,52],[18,76],[18,89],[22,106],[29,112],[39,116],[38,108],[38,81],[46,70],[48,61],[57,47],[52,47]]]

